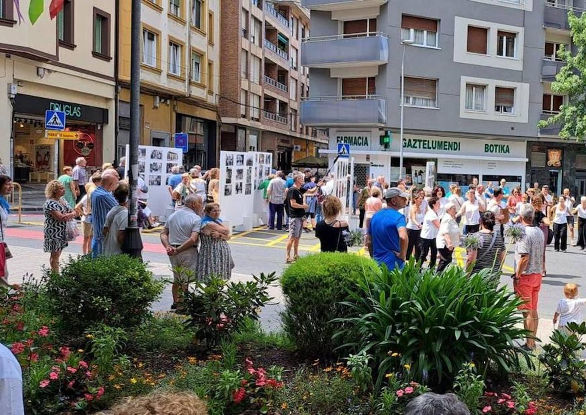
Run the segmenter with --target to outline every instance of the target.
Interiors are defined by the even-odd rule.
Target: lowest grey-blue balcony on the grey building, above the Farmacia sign
[[[379,126],[387,123],[387,101],[379,95],[305,97],[301,124],[311,126]]]

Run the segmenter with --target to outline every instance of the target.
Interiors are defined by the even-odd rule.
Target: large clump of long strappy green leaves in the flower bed
[[[346,303],[351,317],[341,319],[355,339],[345,347],[373,355],[375,390],[386,373],[407,369],[408,377],[430,386],[449,387],[458,371],[475,362],[486,375],[490,364],[519,371],[516,345],[527,331],[517,306],[522,300],[506,287],[486,286],[483,272],[468,278],[449,267],[440,274],[411,260],[402,270],[362,278]]]

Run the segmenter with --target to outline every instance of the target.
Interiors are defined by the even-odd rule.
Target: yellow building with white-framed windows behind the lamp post
[[[130,138],[131,0],[120,2],[117,157]],[[212,0],[142,0],[141,144],[173,147],[188,133],[187,166],[217,164],[220,5]]]

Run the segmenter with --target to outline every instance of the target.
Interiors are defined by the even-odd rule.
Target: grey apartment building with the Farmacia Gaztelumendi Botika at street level
[[[565,0],[571,1],[571,0]],[[579,3],[579,4],[578,4]],[[301,123],[350,144],[359,184],[383,174],[423,179],[434,161],[445,185],[505,178],[586,193],[586,148],[540,131],[565,98],[550,85],[570,45],[568,9],[584,0],[302,0],[311,85]],[[399,172],[404,56],[403,172]],[[391,132],[391,143],[380,136]]]

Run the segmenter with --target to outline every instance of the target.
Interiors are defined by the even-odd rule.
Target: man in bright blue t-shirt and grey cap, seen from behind
[[[398,187],[384,193],[387,207],[374,214],[366,236],[370,256],[389,269],[402,267],[407,255],[407,228],[403,214],[398,212],[407,204],[409,195]]]

